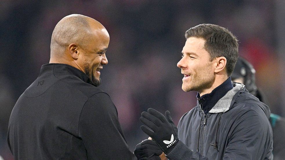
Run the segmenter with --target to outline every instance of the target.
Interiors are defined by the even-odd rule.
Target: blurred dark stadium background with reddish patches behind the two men
[[[169,110],[177,125],[196,105],[197,92],[181,89],[183,75],[176,64],[185,31],[202,23],[237,36],[239,53],[255,67],[271,112],[285,116],[284,0],[1,0],[0,155],[5,160],[13,159],[6,142],[12,108],[49,62],[55,25],[74,13],[96,19],[110,34],[100,88],[117,106],[132,151],[148,138],[140,130],[141,112]]]

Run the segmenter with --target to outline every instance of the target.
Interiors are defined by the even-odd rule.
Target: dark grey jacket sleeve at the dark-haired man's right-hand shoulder
[[[266,115],[257,105],[250,105],[250,110],[244,108],[232,126],[224,159],[271,159],[273,135]]]

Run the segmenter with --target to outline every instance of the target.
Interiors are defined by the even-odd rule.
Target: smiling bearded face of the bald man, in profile
[[[83,48],[83,54],[81,54],[81,66],[95,86],[101,84],[100,70],[103,69],[103,64],[108,63],[105,52],[109,41],[107,30],[97,29],[92,33],[89,43]]]

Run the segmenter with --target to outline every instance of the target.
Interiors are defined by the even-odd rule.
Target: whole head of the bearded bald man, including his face
[[[106,28],[87,16],[71,14],[61,19],[52,32],[50,63],[73,66],[99,86],[100,70],[108,63],[106,50],[110,41]]]

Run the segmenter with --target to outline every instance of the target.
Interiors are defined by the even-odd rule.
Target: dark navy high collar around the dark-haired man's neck
[[[231,78],[229,77],[211,93],[204,94],[202,97],[200,97],[198,92],[196,97],[199,102],[199,106],[204,111],[204,114],[207,114],[215,106],[219,99],[224,97],[224,95],[231,89],[233,89],[233,85],[231,83]]]

